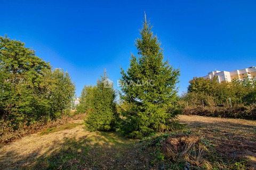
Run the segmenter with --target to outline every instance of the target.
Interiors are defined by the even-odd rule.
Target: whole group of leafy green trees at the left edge
[[[52,69],[25,43],[0,37],[0,118],[13,128],[62,115],[75,83],[68,72]]]

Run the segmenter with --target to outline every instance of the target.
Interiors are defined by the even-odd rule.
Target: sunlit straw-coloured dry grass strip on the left
[[[52,151],[59,149],[65,138],[78,139],[85,135],[93,134],[86,132],[83,125],[47,135],[39,135],[39,133],[28,135],[0,149],[0,165],[6,169],[33,166],[36,158],[50,155]]]

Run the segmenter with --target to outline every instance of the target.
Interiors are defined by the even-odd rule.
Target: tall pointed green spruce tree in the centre
[[[139,56],[131,56],[127,72],[121,68],[121,99],[128,105],[122,129],[131,138],[170,130],[174,125],[175,114],[170,108],[180,71],[163,61],[163,48],[151,29],[145,14],[141,39],[135,43]]]

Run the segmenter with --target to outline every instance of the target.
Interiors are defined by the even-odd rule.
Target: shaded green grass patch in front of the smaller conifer
[[[142,169],[149,160],[134,141],[113,132],[97,132],[78,140],[66,139],[60,150],[41,157],[33,169]],[[46,164],[47,163],[47,164]]]

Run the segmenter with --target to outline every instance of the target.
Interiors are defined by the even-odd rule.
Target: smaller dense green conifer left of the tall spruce
[[[91,90],[93,98],[89,102],[91,107],[85,120],[86,129],[89,131],[114,130],[118,118],[116,103],[114,102],[116,94],[112,84],[108,84],[106,72],[97,81],[97,86]]]

